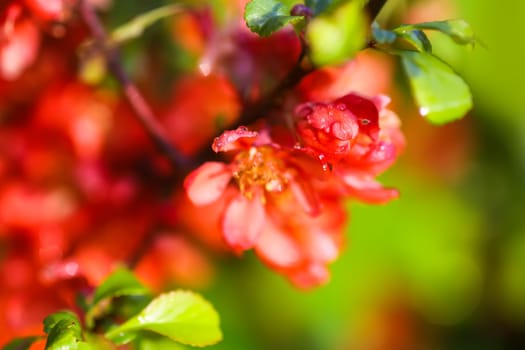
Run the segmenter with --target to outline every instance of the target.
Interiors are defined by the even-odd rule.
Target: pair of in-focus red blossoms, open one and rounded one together
[[[299,287],[322,284],[343,243],[343,200],[385,203],[398,195],[375,179],[403,148],[388,102],[348,94],[300,104],[295,144],[276,142],[269,127],[226,131],[212,148],[233,158],[194,170],[185,180],[187,195],[196,205],[226,197],[220,226],[235,252],[253,248]]]

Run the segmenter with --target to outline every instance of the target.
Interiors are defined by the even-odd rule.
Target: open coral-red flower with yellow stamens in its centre
[[[308,171],[299,165],[301,155],[243,127],[216,138],[213,149],[238,153],[230,164],[203,164],[184,186],[197,205],[216,201],[230,192],[228,187],[235,189],[221,222],[227,244],[237,253],[255,248],[299,287],[325,282],[326,264],[339,252],[344,212],[337,202],[316,195]],[[324,205],[335,210],[321,213]]]

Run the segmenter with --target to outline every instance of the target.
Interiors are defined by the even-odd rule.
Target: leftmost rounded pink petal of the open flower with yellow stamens
[[[207,162],[186,177],[184,188],[194,204],[210,204],[224,192],[231,177],[232,174],[226,164]]]

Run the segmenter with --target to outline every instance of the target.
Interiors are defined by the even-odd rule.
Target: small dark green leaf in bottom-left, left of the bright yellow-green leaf
[[[82,339],[82,327],[77,316],[69,311],[60,311],[44,319],[47,333],[46,350],[90,349]]]

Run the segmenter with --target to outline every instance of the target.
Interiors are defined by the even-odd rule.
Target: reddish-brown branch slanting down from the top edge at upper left
[[[114,45],[109,44],[106,30],[95,13],[95,10],[86,0],[80,0],[79,6],[81,16],[93,35],[96,47],[104,54],[109,71],[122,86],[124,95],[135,117],[144,127],[155,146],[164,153],[170,162],[175,167],[186,170],[190,167],[191,162],[180,154],[168,141],[168,136],[162,125],[157,121],[151,107],[124,71],[120,53]]]

